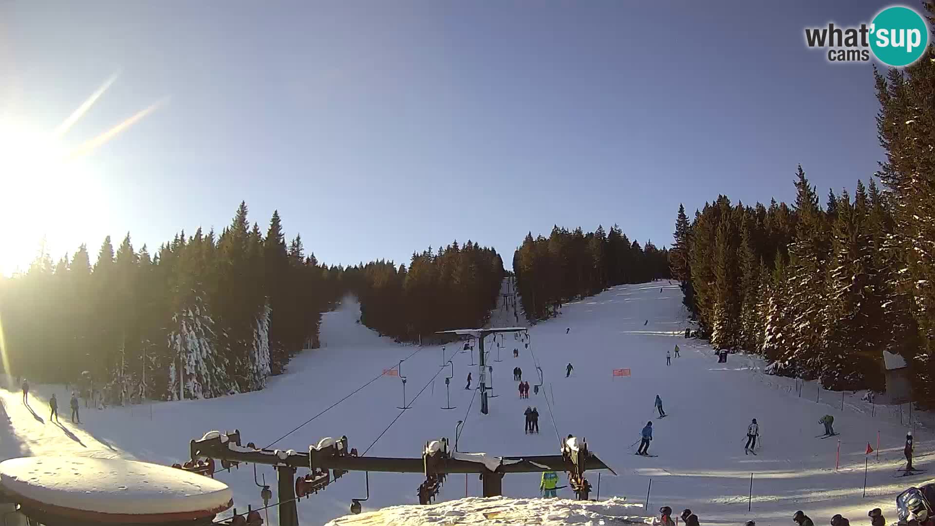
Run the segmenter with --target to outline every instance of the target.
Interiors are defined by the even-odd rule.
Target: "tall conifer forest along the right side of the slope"
[[[935,51],[874,70],[874,80],[883,188],[870,177],[853,197],[830,191],[822,206],[799,166],[791,206],[719,196],[691,221],[680,207],[670,265],[715,347],[759,353],[771,373],[838,389],[883,389],[883,352],[895,353],[911,367],[914,400],[930,400]]]

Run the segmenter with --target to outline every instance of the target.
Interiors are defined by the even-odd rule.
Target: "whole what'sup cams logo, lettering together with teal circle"
[[[827,50],[829,62],[868,62],[872,52],[887,66],[909,66],[926,51],[928,25],[914,9],[892,6],[858,27],[806,27],[805,44]]]

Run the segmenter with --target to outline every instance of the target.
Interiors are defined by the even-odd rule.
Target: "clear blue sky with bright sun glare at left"
[[[509,267],[555,224],[669,245],[680,203],[792,200],[798,163],[867,181],[870,63],[803,29],[886,5],[0,2],[0,272],[241,200],[330,264],[469,239]]]

